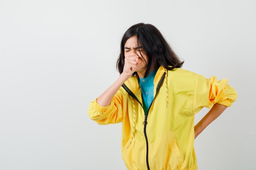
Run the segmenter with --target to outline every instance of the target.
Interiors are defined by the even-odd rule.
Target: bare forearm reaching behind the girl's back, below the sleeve
[[[221,113],[227,108],[227,106],[221,104],[214,104],[209,112],[195,125],[195,138]]]

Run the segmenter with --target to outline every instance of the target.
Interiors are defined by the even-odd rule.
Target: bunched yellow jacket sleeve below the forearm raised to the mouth
[[[97,103],[97,99],[95,99],[89,105],[89,117],[101,125],[120,123],[122,121],[122,101],[120,95],[121,93],[117,92],[109,106],[106,107],[100,106]]]

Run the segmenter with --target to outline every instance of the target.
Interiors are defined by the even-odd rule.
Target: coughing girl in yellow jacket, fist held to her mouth
[[[226,79],[206,79],[182,64],[155,26],[139,23],[124,33],[120,76],[88,115],[98,124],[122,123],[128,170],[196,170],[194,139],[236,100]],[[203,107],[211,109],[194,126]]]

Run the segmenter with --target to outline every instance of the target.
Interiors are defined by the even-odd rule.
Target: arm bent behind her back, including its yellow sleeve
[[[222,112],[232,105],[237,98],[237,93],[229,84],[227,79],[217,80],[215,76],[205,79],[198,75],[196,95],[194,101],[194,113],[197,113],[202,107],[212,108],[195,125],[195,138]]]

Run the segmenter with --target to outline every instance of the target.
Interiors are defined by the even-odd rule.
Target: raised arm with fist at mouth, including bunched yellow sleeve
[[[90,103],[88,108],[89,117],[98,124],[116,124],[122,119],[122,101],[119,89],[121,85],[134,73],[140,61],[138,56],[125,58],[123,73],[97,100]]]

